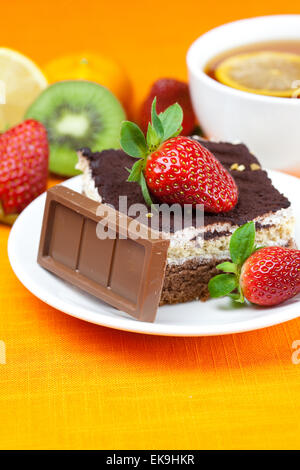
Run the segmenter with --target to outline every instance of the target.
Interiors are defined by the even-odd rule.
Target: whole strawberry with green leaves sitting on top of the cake
[[[227,212],[237,203],[238,189],[230,173],[199,142],[178,136],[183,112],[176,103],[156,113],[152,103],[152,123],[147,140],[134,123],[124,122],[121,146],[140,158],[128,181],[138,182],[145,201],[152,204],[148,189],[159,201],[181,205],[203,204],[209,212]]]

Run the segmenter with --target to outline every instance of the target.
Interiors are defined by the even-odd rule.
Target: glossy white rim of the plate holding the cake
[[[276,170],[267,170],[268,174],[272,178],[272,174],[279,175],[282,178],[292,179],[295,182],[299,183],[299,179],[295,176],[282,173]],[[72,185],[75,180],[79,180],[81,175],[75,176],[73,178],[69,178],[63,181],[62,185]],[[100,326],[105,326],[108,328],[113,328],[122,331],[128,331],[132,333],[140,333],[140,334],[148,334],[148,335],[158,335],[158,336],[176,336],[176,337],[201,337],[201,336],[216,336],[216,335],[227,335],[227,334],[236,334],[236,333],[244,333],[248,331],[254,331],[258,329],[267,328],[270,326],[278,325],[280,323],[284,323],[286,321],[290,321],[296,319],[300,316],[300,312],[296,313],[292,308],[292,305],[286,305],[286,312],[282,312],[279,310],[276,312],[276,307],[271,307],[268,310],[274,309],[275,312],[270,315],[263,315],[261,317],[256,316],[253,319],[248,319],[245,321],[237,321],[237,322],[229,322],[227,324],[222,325],[204,325],[199,328],[198,325],[172,325],[172,324],[163,324],[163,323],[148,323],[148,322],[141,322],[134,318],[121,317],[119,315],[116,316],[108,316],[105,312],[91,312],[86,313],[86,309],[83,307],[77,307],[71,301],[64,301],[62,299],[57,298],[52,293],[49,292],[45,295],[45,289],[41,289],[40,286],[32,280],[30,276],[26,273],[26,269],[18,263],[16,257],[14,257],[14,243],[16,234],[18,233],[19,226],[22,226],[22,222],[24,217],[27,216],[28,211],[32,209],[33,204],[39,204],[43,198],[45,198],[46,193],[44,192],[40,196],[38,196],[34,201],[32,201],[24,211],[19,215],[17,220],[15,221],[14,225],[11,228],[9,238],[8,238],[8,258],[12,270],[14,271],[16,277],[19,281],[24,285],[24,287],[31,292],[35,297],[46,303],[47,305],[56,308],[57,310],[78,318],[83,321],[87,321],[89,323],[93,323]],[[59,282],[64,282],[58,278]],[[297,302],[298,303],[298,302]],[[165,306],[168,307],[168,306]],[[282,308],[282,307],[280,307]],[[80,313],[79,310],[84,311],[84,313]],[[71,310],[71,311],[70,311]],[[72,313],[71,313],[72,312]],[[284,317],[284,318],[282,318]],[[195,329],[197,331],[192,331]]]

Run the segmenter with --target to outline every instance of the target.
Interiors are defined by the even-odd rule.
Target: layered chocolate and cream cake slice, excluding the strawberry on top
[[[193,137],[199,139],[198,137]],[[176,230],[171,220],[170,246],[160,304],[206,300],[208,281],[217,274],[216,265],[229,259],[232,232],[246,222],[256,224],[256,243],[262,246],[294,244],[294,218],[288,199],[273,185],[257,158],[243,144],[216,143],[201,139],[229,170],[239,190],[239,200],[226,213],[205,213],[204,226],[197,226],[193,213],[190,227]],[[127,206],[145,204],[140,186],[127,182],[128,171],[136,161],[122,150],[78,152],[77,167],[83,172],[83,193],[119,209],[119,196],[127,196]],[[157,201],[154,201],[157,202]],[[121,210],[121,209],[120,209]],[[164,231],[162,223],[159,230]],[[201,243],[200,243],[201,239]]]

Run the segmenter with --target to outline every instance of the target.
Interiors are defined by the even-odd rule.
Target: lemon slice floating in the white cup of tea
[[[285,52],[253,52],[225,59],[215,71],[224,85],[278,97],[297,97],[300,87],[300,55]]]

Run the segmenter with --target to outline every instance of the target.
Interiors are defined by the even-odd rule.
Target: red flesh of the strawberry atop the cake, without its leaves
[[[188,137],[173,137],[148,158],[148,187],[168,204],[204,204],[209,212],[227,212],[237,203],[238,190],[230,173],[211,152]]]

